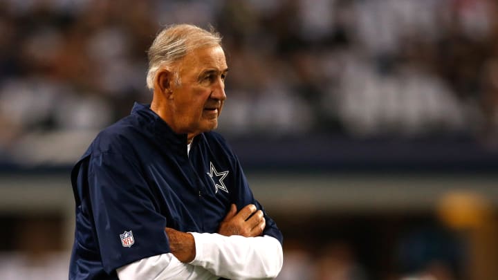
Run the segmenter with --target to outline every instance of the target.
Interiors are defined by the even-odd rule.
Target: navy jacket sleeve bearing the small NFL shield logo
[[[148,256],[169,252],[154,196],[140,167],[122,154],[91,156],[88,195],[104,270],[112,270]]]

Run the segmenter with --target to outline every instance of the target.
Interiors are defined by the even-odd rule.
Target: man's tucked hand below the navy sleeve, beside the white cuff
[[[169,239],[169,250],[176,259],[183,263],[190,263],[196,256],[194,236],[186,232],[178,232],[166,227],[165,232]]]

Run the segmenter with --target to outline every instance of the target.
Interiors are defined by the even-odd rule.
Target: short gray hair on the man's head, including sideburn
[[[214,28],[205,30],[191,24],[175,24],[167,26],[154,39],[147,52],[149,70],[147,71],[147,87],[154,88],[154,79],[161,66],[173,66],[187,53],[203,46],[221,46],[221,36]],[[174,74],[179,84],[178,72]]]

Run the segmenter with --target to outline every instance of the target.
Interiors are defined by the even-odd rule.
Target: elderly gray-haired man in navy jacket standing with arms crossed
[[[212,132],[225,101],[221,38],[186,24],[149,49],[150,105],[104,129],[75,165],[69,279],[265,279],[282,233]]]

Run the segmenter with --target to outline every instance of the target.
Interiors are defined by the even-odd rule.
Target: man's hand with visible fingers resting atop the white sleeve
[[[256,211],[255,205],[246,205],[237,213],[237,206],[232,204],[230,211],[220,224],[218,233],[224,236],[255,237],[263,233],[265,226],[266,221],[263,212],[261,210]]]

